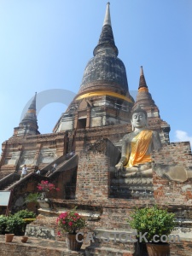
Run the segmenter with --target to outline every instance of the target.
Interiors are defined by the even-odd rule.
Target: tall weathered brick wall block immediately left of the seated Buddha
[[[111,166],[119,160],[119,149],[108,138],[98,139],[79,153],[76,198],[89,201],[108,199]]]

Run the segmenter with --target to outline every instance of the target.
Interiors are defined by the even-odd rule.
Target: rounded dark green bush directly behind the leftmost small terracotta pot
[[[13,215],[7,218],[6,232],[15,235],[23,235],[26,223],[22,218]]]

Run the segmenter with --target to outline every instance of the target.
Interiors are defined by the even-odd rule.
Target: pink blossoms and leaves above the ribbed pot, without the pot
[[[80,217],[78,212],[74,212],[75,209],[76,207],[69,212],[62,212],[59,218],[56,219],[62,233],[76,234],[78,230],[86,226],[84,218]],[[58,235],[60,236],[61,233],[58,232]]]

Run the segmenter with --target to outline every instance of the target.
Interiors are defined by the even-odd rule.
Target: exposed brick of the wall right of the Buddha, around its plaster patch
[[[165,165],[178,165],[188,168],[192,166],[192,154],[190,144],[171,143],[154,154],[154,162]],[[178,183],[159,177],[153,172],[154,198],[157,203],[163,205],[175,204],[180,206],[192,206],[192,181]]]

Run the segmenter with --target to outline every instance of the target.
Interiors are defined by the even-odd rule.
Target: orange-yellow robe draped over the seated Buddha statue
[[[150,154],[148,152],[148,146],[152,140],[153,131],[143,130],[137,134],[131,141],[131,155],[127,157],[129,159],[125,167],[137,166],[138,164],[144,164],[151,162]]]

